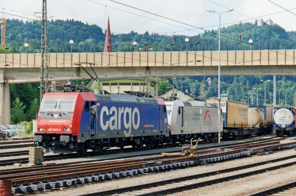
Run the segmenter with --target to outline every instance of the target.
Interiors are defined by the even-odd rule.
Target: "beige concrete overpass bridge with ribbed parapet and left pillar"
[[[221,51],[221,75],[296,75],[296,50]],[[218,51],[49,53],[48,79],[217,76]],[[92,64],[92,65],[90,65]],[[40,82],[41,54],[0,54],[0,124],[9,124],[9,84]],[[9,114],[9,115],[8,115]]]

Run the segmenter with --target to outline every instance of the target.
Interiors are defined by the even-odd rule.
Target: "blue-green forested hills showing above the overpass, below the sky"
[[[28,43],[29,53],[40,52],[41,22],[7,20],[6,43],[15,53],[25,52],[24,44]],[[112,25],[111,25],[112,26]],[[104,50],[105,35],[101,27],[84,24],[72,20],[51,20],[47,23],[48,51],[70,52],[69,41],[74,40],[73,52],[102,52]],[[112,31],[112,28],[111,28]],[[189,36],[188,50],[218,50],[218,29],[201,30],[204,33]],[[112,34],[112,47],[114,52],[133,51],[133,41],[138,42],[138,48],[144,48],[149,43],[152,51],[184,51],[186,50],[185,35],[177,35],[175,43],[173,34],[160,35],[157,33],[138,34],[131,30],[128,34]],[[241,34],[241,39],[240,39]],[[252,39],[253,50],[265,49],[295,49],[296,33],[286,32],[280,26],[257,26],[252,23],[239,23],[221,27],[221,50],[248,50],[248,40]],[[240,42],[241,41],[241,42]],[[202,42],[202,43],[194,43]],[[237,44],[239,43],[239,44]]]

